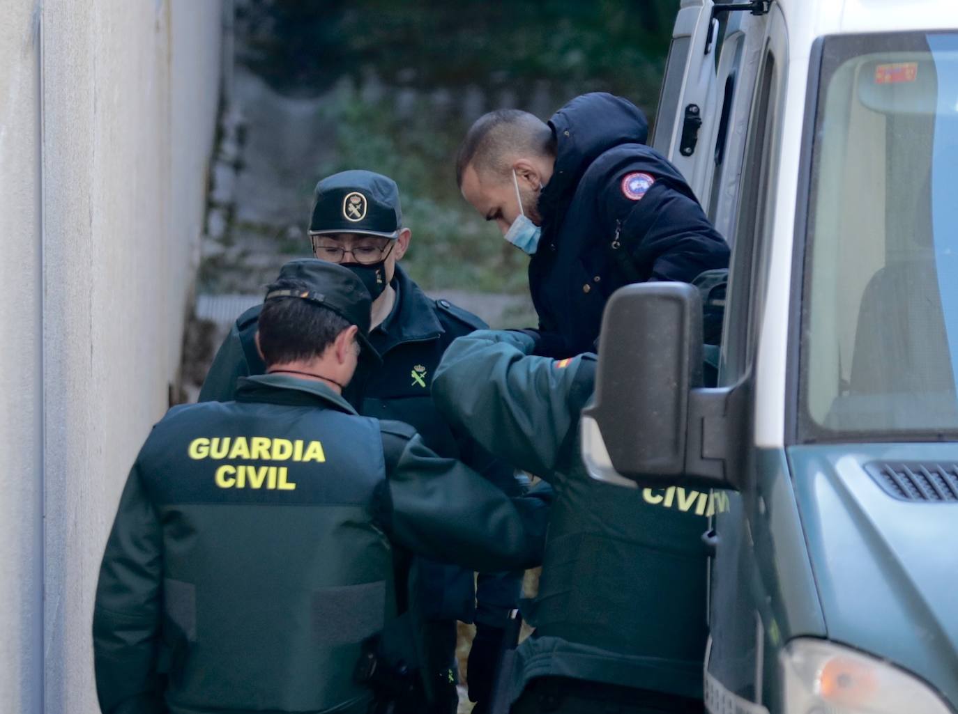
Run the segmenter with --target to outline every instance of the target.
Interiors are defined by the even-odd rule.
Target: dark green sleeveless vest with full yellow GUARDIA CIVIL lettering
[[[395,615],[374,419],[315,406],[175,409],[139,471],[162,522],[171,708],[361,710],[360,642]]]

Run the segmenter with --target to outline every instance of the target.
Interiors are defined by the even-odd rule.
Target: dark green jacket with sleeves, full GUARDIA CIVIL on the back
[[[396,612],[391,542],[523,568],[541,555],[543,511],[317,382],[250,377],[235,402],[174,408],[103,556],[103,712],[365,711],[352,671]]]

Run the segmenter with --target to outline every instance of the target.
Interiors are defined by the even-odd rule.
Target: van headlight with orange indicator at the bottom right
[[[779,659],[787,714],[951,714],[924,682],[831,642],[796,639]]]

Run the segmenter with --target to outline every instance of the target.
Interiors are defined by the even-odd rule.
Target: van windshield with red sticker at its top
[[[802,431],[958,432],[958,35],[827,38],[815,120]]]

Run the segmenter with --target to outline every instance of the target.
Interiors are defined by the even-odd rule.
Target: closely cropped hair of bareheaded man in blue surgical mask
[[[456,183],[462,187],[466,167],[477,171],[508,170],[509,155],[531,151],[556,156],[556,137],[549,125],[520,109],[496,109],[479,117],[466,132],[456,154]]]

